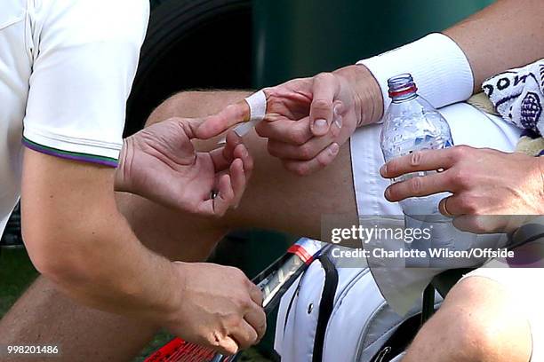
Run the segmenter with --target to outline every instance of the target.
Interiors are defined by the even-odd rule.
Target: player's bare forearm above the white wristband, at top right
[[[475,91],[484,80],[544,58],[544,2],[500,0],[444,31],[467,56]]]

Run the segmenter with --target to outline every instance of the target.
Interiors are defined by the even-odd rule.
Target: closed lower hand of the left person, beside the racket
[[[260,341],[267,329],[262,293],[242,271],[217,264],[175,265],[183,282],[180,308],[167,326],[172,333],[228,355]]]

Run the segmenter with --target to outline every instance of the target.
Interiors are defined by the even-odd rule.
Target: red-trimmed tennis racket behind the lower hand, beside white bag
[[[276,308],[282,295],[321,250],[321,242],[300,239],[284,256],[280,256],[276,262],[252,279],[252,282],[262,290],[263,308],[267,314]],[[146,358],[145,362],[233,362],[239,355],[240,352],[233,356],[223,356],[209,348],[175,337]]]

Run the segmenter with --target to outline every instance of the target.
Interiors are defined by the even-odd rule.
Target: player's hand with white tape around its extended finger
[[[330,164],[356,127],[378,121],[383,111],[380,86],[363,66],[295,79],[263,91],[267,112],[255,130],[268,138],[268,152],[299,175]],[[249,106],[241,101],[208,117],[196,135],[210,138],[249,117]]]

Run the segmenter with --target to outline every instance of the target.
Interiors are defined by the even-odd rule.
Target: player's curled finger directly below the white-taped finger
[[[308,139],[314,137],[309,130],[309,118],[299,121],[279,118],[273,122],[260,122],[255,130],[260,137],[275,139],[292,145],[302,145]]]

